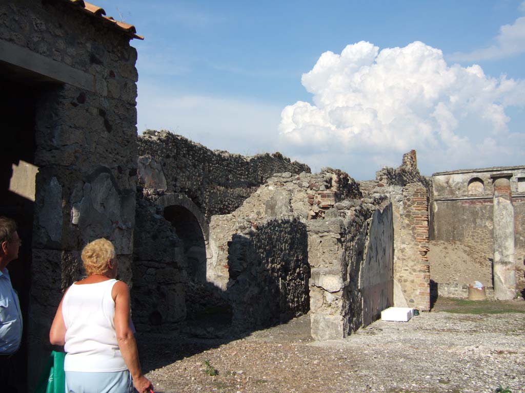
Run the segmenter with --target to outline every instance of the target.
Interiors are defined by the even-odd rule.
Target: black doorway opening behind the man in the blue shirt
[[[17,222],[18,234],[22,239],[18,259],[12,261],[7,268],[13,287],[18,292],[24,320],[22,346],[13,360],[16,363],[18,375],[15,378],[20,391],[25,391],[34,202],[27,193],[23,195],[13,191],[13,178],[16,170],[14,167],[33,167],[35,163],[36,103],[43,91],[43,85],[31,82],[30,79],[20,79],[20,75],[0,64],[0,86],[0,215],[8,216]]]

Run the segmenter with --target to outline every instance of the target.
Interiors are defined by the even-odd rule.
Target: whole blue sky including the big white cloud
[[[145,37],[139,133],[359,180],[525,164],[523,1],[93,2]]]

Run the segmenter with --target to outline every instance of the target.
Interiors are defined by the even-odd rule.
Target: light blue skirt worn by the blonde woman
[[[83,373],[66,371],[67,393],[133,393],[130,372]]]

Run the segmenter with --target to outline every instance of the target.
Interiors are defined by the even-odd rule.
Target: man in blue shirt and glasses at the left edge
[[[12,381],[15,372],[11,356],[22,341],[22,312],[6,268],[18,258],[22,244],[16,229],[13,220],[0,216],[0,381],[5,391],[17,391]]]

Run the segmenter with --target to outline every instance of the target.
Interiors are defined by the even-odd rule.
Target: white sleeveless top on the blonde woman
[[[65,371],[116,372],[127,370],[117,344],[115,302],[111,290],[117,280],[73,284],[62,302],[66,324]]]

